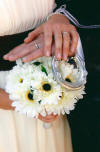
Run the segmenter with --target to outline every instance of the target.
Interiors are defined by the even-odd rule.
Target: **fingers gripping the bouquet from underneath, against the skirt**
[[[42,115],[39,114],[38,118],[44,122],[50,123],[56,120],[59,116],[58,115],[47,115],[46,117],[43,117]]]

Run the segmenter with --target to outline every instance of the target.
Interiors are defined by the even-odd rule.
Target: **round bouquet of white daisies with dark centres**
[[[61,86],[52,73],[51,57],[40,57],[29,63],[16,61],[7,76],[6,91],[15,111],[37,118],[39,114],[69,114],[75,103],[83,98],[84,88],[69,91]],[[63,79],[75,82],[80,72],[74,65],[60,61]]]

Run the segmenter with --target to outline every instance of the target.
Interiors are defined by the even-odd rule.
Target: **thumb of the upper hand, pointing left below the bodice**
[[[36,38],[38,35],[43,33],[42,26],[36,28],[34,31],[28,34],[28,37],[24,39],[25,43],[31,42],[34,38]]]

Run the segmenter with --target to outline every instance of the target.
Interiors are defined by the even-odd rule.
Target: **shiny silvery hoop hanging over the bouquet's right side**
[[[67,90],[71,90],[71,91],[80,90],[81,88],[84,87],[84,84],[86,83],[87,71],[85,69],[85,65],[83,61],[78,55],[75,57],[71,57],[71,59],[75,61],[77,65],[77,69],[80,71],[80,78],[77,79],[76,82],[70,83],[70,82],[66,82],[63,79],[59,71],[60,61],[58,61],[55,56],[52,59],[52,72],[56,81]]]

